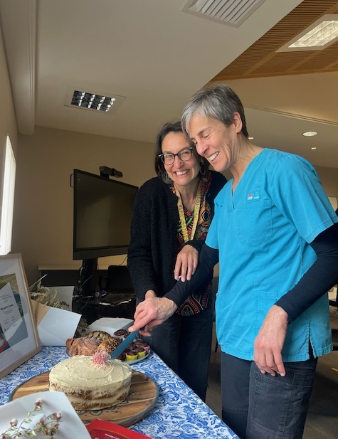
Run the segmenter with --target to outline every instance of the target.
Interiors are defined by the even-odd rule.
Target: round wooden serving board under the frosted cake
[[[31,395],[32,393],[48,391],[49,372],[33,376],[20,386],[18,386],[9,397],[9,401],[20,398],[21,396]],[[88,424],[96,418],[104,421],[114,422],[124,427],[137,423],[137,421],[147,416],[154,408],[159,391],[157,385],[149,376],[141,372],[132,371],[132,385],[130,393],[120,404],[110,408],[93,411],[76,411],[84,424]],[[62,408],[60,408],[62,411]]]

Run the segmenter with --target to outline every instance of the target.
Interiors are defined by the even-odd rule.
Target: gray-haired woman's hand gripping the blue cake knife
[[[137,305],[134,324],[128,330],[149,337],[150,331],[169,319],[176,309],[176,304],[167,297],[150,297]]]

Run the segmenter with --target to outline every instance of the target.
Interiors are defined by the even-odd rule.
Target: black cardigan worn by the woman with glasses
[[[214,203],[218,192],[226,184],[226,178],[211,171],[211,186],[206,200],[214,213]],[[132,278],[137,298],[142,301],[148,290],[154,290],[162,297],[172,287],[174,267],[178,254],[177,226],[179,212],[177,196],[171,186],[155,177],[146,181],[137,191],[132,215],[131,240],[128,248],[128,270]],[[201,250],[204,240],[191,240],[189,244]],[[199,290],[204,292],[211,281],[208,277]]]

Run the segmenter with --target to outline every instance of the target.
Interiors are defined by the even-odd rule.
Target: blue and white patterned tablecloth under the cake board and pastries
[[[51,370],[66,359],[65,347],[43,347],[0,381],[0,406],[14,389],[32,376]],[[151,354],[132,369],[147,374],[159,388],[156,406],[132,430],[154,439],[238,439],[191,389],[157,356]]]

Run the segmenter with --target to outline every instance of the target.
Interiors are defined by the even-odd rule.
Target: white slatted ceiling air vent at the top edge
[[[265,0],[188,0],[182,11],[229,26],[241,26]]]

